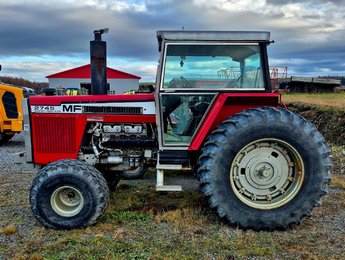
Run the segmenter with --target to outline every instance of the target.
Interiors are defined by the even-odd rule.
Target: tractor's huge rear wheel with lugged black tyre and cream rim
[[[299,223],[327,193],[331,161],[317,129],[285,109],[250,109],[224,121],[198,165],[202,192],[231,224],[256,230]]]

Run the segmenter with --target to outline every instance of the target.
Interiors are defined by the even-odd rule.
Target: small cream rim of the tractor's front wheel
[[[63,186],[53,192],[50,198],[50,205],[60,216],[73,217],[82,210],[84,198],[76,188]]]

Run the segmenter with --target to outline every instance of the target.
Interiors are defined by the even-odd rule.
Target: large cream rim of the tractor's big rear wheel
[[[291,201],[304,180],[302,157],[290,144],[273,138],[243,147],[230,168],[236,196],[256,209],[273,209]]]

